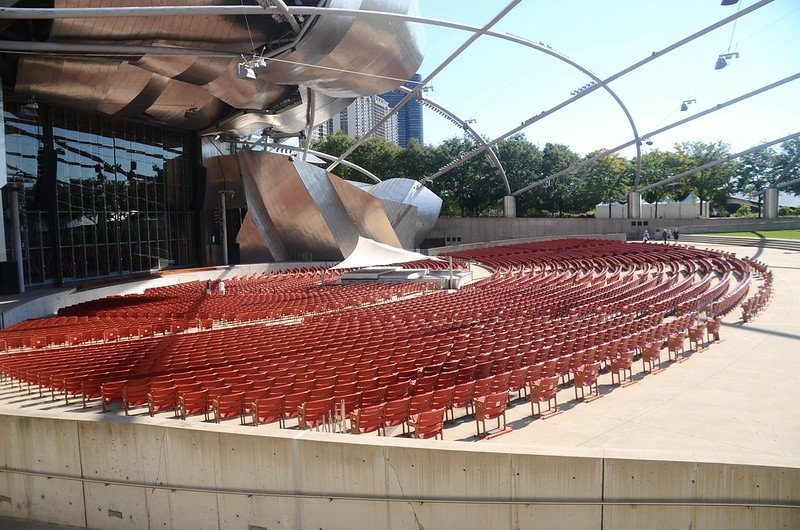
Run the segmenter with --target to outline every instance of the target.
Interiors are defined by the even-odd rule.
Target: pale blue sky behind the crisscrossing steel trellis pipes
[[[606,78],[755,3],[721,6],[720,0],[524,0],[492,29],[543,42]],[[482,26],[505,0],[419,0],[422,16]],[[425,26],[423,78],[469,34]],[[738,52],[715,70],[720,53]],[[630,110],[640,134],[716,106],[800,72],[800,1],[775,0],[611,84]],[[543,53],[481,37],[431,81],[427,97],[489,138],[504,134],[570,97],[590,79]],[[683,100],[695,99],[687,112]],[[683,140],[729,143],[733,151],[800,131],[800,80],[699,118],[652,138],[671,149]],[[604,91],[597,90],[524,131],[529,140],[565,143],[579,153],[615,147],[632,139],[629,122]],[[438,144],[460,129],[427,111],[425,142]],[[633,149],[622,154],[631,156]]]

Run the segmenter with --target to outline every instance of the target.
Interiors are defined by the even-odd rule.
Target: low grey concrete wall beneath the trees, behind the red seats
[[[647,224],[644,224],[647,223]],[[536,237],[626,234],[640,240],[643,230],[654,237],[656,229],[677,228],[681,233],[738,230],[796,229],[800,219],[533,219],[441,217],[428,234],[429,240],[443,239],[446,245],[480,243]]]

